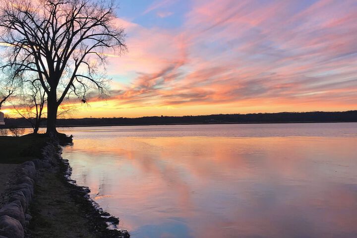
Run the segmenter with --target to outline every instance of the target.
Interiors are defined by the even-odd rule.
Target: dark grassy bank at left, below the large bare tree
[[[47,140],[44,134],[0,136],[0,164],[21,164],[40,158]]]

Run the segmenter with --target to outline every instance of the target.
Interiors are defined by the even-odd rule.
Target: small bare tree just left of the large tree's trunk
[[[18,115],[31,124],[33,133],[37,134],[46,115],[44,107],[47,102],[47,95],[38,80],[28,80],[26,83],[29,85],[24,87],[24,92],[20,97],[21,103],[11,103],[11,105]]]

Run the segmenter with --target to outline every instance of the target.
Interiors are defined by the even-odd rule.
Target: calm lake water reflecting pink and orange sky
[[[132,238],[357,237],[357,123],[64,132],[72,179]]]

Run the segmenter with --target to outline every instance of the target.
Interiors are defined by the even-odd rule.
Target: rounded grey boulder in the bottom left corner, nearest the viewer
[[[23,238],[24,231],[21,223],[7,215],[0,217],[0,236],[7,238]]]

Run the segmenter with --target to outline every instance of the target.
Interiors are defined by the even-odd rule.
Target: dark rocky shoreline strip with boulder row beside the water
[[[83,231],[84,235],[90,234],[95,238],[130,237],[127,231],[117,228],[118,218],[103,211],[90,198],[88,187],[78,186],[70,179],[71,168],[68,160],[62,159],[58,143],[48,143],[43,148],[42,155],[41,159],[19,165],[10,178],[11,184],[4,193],[3,206],[0,209],[0,238],[60,237],[60,234],[54,236],[52,233],[56,229],[71,229],[71,225],[73,232],[69,230],[66,234],[73,234],[72,237],[77,237],[74,230],[81,229],[86,230]],[[57,184],[57,187],[49,183]],[[57,191],[53,189],[61,189],[64,196],[56,195]],[[48,201],[54,201],[54,204],[49,204]],[[60,215],[53,209],[57,209]],[[48,218],[59,221],[52,222]],[[74,227],[71,220],[85,224],[83,228],[78,225]],[[61,221],[69,221],[67,228],[62,228],[65,224]],[[59,223],[62,227],[57,228]],[[82,231],[79,233],[82,235]]]

